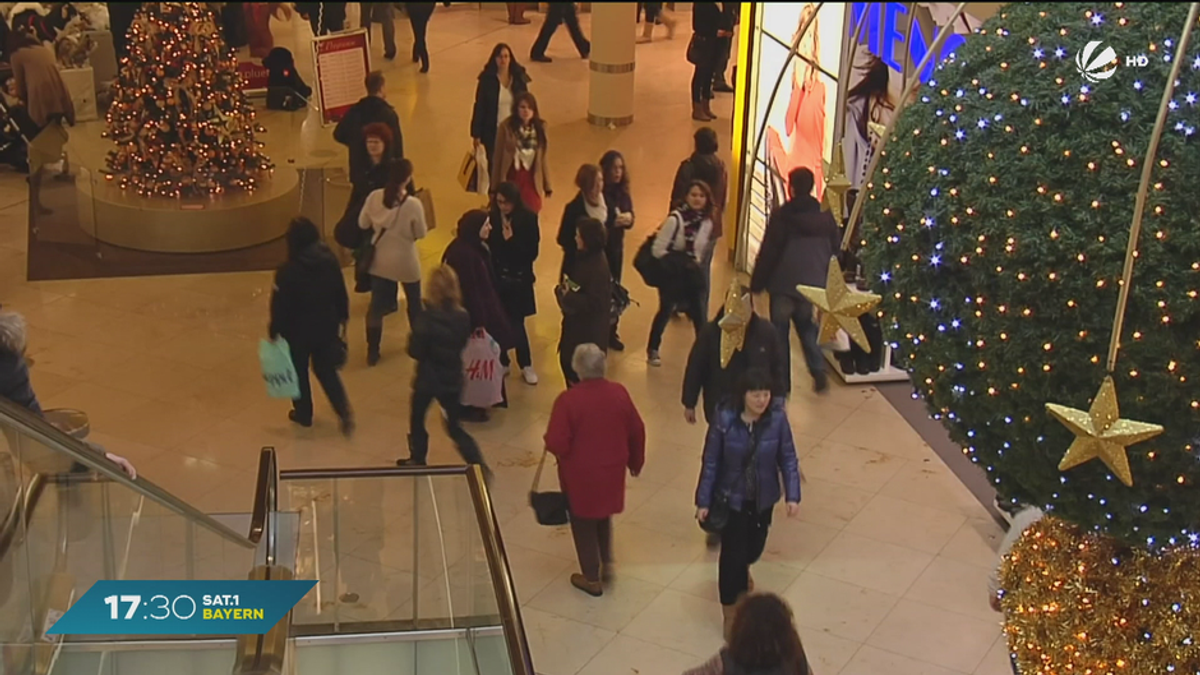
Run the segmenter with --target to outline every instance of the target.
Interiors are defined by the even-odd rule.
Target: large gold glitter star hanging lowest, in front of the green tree
[[[1087,411],[1046,404],[1046,411],[1075,435],[1067,454],[1058,462],[1058,471],[1079,466],[1099,458],[1126,486],[1133,486],[1129,472],[1129,446],[1148,441],[1163,432],[1159,424],[1121,419],[1117,408],[1117,388],[1112,376],[1104,376],[1100,390]]]

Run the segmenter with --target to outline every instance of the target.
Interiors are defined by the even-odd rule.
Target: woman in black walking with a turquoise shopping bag
[[[288,419],[300,426],[312,426],[311,360],[317,382],[337,413],[342,434],[348,437],[354,432],[354,417],[346,387],[337,375],[337,369],[346,363],[343,334],[350,318],[342,265],[320,240],[317,226],[304,216],[292,221],[284,238],[288,259],[275,273],[268,333],[271,340],[282,335],[288,341],[300,383],[300,398],[292,401]]]

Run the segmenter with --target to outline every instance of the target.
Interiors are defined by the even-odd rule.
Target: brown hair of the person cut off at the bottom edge
[[[792,623],[792,608],[779,596],[754,593],[738,603],[730,629],[730,657],[748,670],[782,667],[790,675],[809,675],[809,659]]]

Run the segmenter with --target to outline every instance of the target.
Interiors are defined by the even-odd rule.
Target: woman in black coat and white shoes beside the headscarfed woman
[[[538,313],[538,300],[533,291],[536,281],[533,263],[538,259],[541,245],[538,214],[524,208],[521,189],[515,183],[502,183],[496,187],[490,217],[492,232],[487,237],[487,246],[492,250],[500,304],[512,327],[517,366],[521,368],[521,378],[526,384],[536,384],[538,372],[533,369],[524,319]],[[505,350],[500,352],[500,365],[508,369],[509,363],[509,352]]]

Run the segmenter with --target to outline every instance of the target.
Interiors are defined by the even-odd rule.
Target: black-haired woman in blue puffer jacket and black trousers
[[[772,509],[780,497],[787,502],[790,516],[800,504],[800,468],[792,426],[784,399],[773,400],[770,388],[769,374],[748,371],[738,382],[737,396],[718,411],[704,440],[696,519],[706,521],[714,501],[728,500],[718,562],[726,634],[733,605],[750,590],[750,566],[767,544]]]

